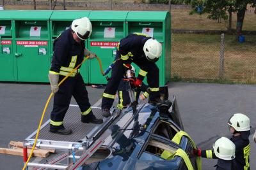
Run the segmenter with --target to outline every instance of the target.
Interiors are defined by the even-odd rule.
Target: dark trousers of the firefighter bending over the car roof
[[[147,71],[147,82],[150,88],[159,88],[159,69],[156,66],[156,63],[150,62],[146,58],[140,58],[138,60],[134,59],[133,62],[139,66],[144,71]],[[115,65],[112,68],[111,77],[108,80],[104,94],[115,96],[118,85],[122,80],[125,73],[125,67],[123,66],[122,60],[117,60]],[[114,99],[111,97],[102,97],[102,109],[111,108]],[[158,92],[150,92],[149,99],[154,101],[156,98],[159,98],[160,94]]]

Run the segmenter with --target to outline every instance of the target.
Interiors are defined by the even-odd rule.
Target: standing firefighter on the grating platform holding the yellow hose
[[[54,103],[51,112],[50,132],[58,134],[71,134],[72,130],[65,128],[63,119],[68,110],[70,99],[73,96],[81,110],[81,122],[102,124],[102,119],[97,119],[93,113],[88,99],[88,92],[83,78],[76,69],[64,83],[58,87],[58,83],[67,76],[72,69],[77,67],[84,57],[90,59],[96,57],[95,53],[85,48],[84,41],[92,34],[92,24],[87,17],[76,19],[69,29],[63,31],[54,39],[53,57],[49,80]]]

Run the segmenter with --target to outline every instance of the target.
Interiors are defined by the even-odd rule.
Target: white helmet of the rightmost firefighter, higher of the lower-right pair
[[[237,132],[250,131],[250,118],[242,113],[235,113],[229,118],[228,125],[234,127]]]

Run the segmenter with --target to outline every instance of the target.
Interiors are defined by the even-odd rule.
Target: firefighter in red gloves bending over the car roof
[[[132,62],[140,67],[134,87],[140,87],[143,79],[147,76],[150,89],[149,99],[152,103],[159,103],[159,68],[156,66],[156,61],[161,54],[161,43],[147,34],[134,33],[121,39],[117,47],[116,62],[112,68],[111,78],[109,78],[102,97],[101,106],[104,117],[110,116],[109,110],[115,99],[118,84],[125,71],[131,69]]]

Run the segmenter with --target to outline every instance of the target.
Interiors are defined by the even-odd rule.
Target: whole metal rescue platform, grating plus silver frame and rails
[[[92,110],[97,118],[102,118],[101,108],[92,107]],[[111,117],[104,118],[103,124],[84,124],[81,122],[79,107],[70,105],[64,119],[64,125],[71,128],[73,133],[70,135],[60,135],[49,132],[50,120],[48,120],[42,125],[36,142],[36,147],[38,148],[53,148],[61,150],[63,153],[47,161],[45,164],[29,162],[28,167],[34,167],[34,169],[76,169],[83,165],[90,157],[95,160],[95,155],[96,157],[99,155],[102,159],[102,153],[97,153],[97,150],[100,149],[104,152],[104,146],[102,146],[104,138],[109,135],[108,132],[104,132],[119,115],[116,114],[118,111],[111,110],[111,112]],[[35,136],[36,131],[25,139],[24,146],[33,146]],[[75,153],[76,156],[74,155]],[[106,153],[106,155],[108,154],[110,153]],[[99,160],[99,157],[96,160]],[[65,159],[67,164],[59,164]]]

